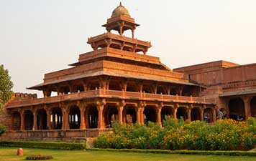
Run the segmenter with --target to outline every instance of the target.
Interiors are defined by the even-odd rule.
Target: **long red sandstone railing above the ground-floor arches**
[[[200,104],[215,104],[214,99],[206,99],[204,97],[184,97],[178,95],[166,95],[166,94],[150,94],[145,92],[125,92],[105,89],[95,89],[86,92],[78,92],[71,94],[63,94],[55,97],[45,97],[40,99],[29,99],[23,101],[13,101],[6,105],[6,108],[14,107],[26,107],[37,104],[50,104],[64,101],[75,101],[79,99],[90,98],[116,98],[116,99],[136,99],[136,100],[148,100],[148,101],[160,101],[160,102],[188,102],[188,103],[200,103]]]

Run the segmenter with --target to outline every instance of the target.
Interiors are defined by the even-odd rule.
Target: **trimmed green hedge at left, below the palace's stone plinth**
[[[31,147],[52,150],[84,150],[86,144],[67,142],[21,142],[21,141],[0,141],[0,146],[5,147]]]

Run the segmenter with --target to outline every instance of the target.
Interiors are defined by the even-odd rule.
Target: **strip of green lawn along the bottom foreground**
[[[147,160],[147,161],[244,161],[256,160],[256,157],[231,157],[231,156],[216,156],[216,155],[168,155],[168,154],[152,154],[152,153],[135,153],[135,152],[106,152],[106,151],[86,151],[86,150],[43,150],[24,148],[24,156],[16,155],[17,148],[15,147],[0,147],[0,160],[24,160],[27,155],[52,155],[52,160],[88,160],[88,161],[125,161],[125,160]]]

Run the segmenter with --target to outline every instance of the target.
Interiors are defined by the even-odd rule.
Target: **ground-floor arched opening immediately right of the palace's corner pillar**
[[[105,127],[110,128],[114,123],[119,122],[118,120],[118,110],[114,105],[107,105],[104,108],[104,121]]]

